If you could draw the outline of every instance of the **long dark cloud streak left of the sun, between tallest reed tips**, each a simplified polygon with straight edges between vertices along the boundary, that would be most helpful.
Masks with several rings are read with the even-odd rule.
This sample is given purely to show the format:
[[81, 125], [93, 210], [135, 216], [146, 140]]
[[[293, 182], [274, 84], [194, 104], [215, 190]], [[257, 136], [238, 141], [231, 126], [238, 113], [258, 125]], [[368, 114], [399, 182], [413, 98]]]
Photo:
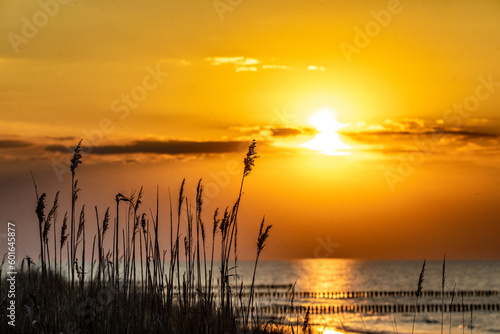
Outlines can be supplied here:
[[[137, 140], [128, 145], [102, 145], [90, 148], [91, 154], [208, 154], [208, 153], [232, 153], [241, 152], [248, 142], [244, 141], [180, 141], [180, 140]], [[45, 148], [49, 152], [68, 153], [71, 148], [63, 145], [49, 145]], [[84, 147], [84, 152], [89, 148]]]

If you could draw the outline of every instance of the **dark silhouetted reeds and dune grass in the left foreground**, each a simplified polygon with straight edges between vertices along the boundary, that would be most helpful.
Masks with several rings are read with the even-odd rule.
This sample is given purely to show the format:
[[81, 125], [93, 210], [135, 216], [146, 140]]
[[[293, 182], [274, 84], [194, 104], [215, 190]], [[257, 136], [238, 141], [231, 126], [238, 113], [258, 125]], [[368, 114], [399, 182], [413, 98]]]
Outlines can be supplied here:
[[[146, 213], [141, 206], [142, 188], [130, 197], [117, 194], [116, 207], [108, 207], [104, 216], [99, 216], [97, 206], [89, 210], [84, 204], [80, 205], [77, 177], [82, 163], [80, 141], [70, 165], [71, 208], [64, 212], [62, 224], [58, 219], [62, 211], [59, 192], [53, 204], [48, 205], [47, 195], [39, 194], [33, 178], [39, 259], [27, 256], [22, 260], [16, 277], [16, 326], [8, 325], [9, 318], [1, 314], [1, 332], [260, 333], [277, 330], [276, 326], [258, 319], [253, 307], [255, 271], [271, 230], [264, 219], [256, 241], [250, 291], [243, 293], [243, 283], [235, 286], [236, 280], [231, 279], [238, 266], [238, 211], [244, 181], [258, 158], [255, 149], [253, 141], [243, 161], [235, 203], [215, 210], [210, 215], [211, 223], [202, 219], [201, 180], [192, 202], [185, 195], [185, 180], [182, 181], [175, 204], [170, 199], [170, 221], [160, 222], [158, 194], [156, 211]], [[126, 217], [120, 214], [123, 206], [128, 212]], [[97, 227], [97, 233], [91, 237], [86, 233], [89, 224]], [[158, 240], [159, 234], [165, 233], [165, 227], [169, 230], [166, 233], [169, 233], [170, 249], [162, 250]], [[211, 238], [207, 238], [208, 233], [212, 234]], [[109, 245], [109, 238], [112, 246], [106, 248], [104, 241], [108, 239]], [[220, 254], [215, 254], [216, 250], [220, 250]], [[0, 272], [0, 282], [3, 279]], [[0, 291], [3, 303], [0, 312], [5, 313], [6, 286], [0, 286]], [[243, 298], [244, 294], [249, 297]]]

